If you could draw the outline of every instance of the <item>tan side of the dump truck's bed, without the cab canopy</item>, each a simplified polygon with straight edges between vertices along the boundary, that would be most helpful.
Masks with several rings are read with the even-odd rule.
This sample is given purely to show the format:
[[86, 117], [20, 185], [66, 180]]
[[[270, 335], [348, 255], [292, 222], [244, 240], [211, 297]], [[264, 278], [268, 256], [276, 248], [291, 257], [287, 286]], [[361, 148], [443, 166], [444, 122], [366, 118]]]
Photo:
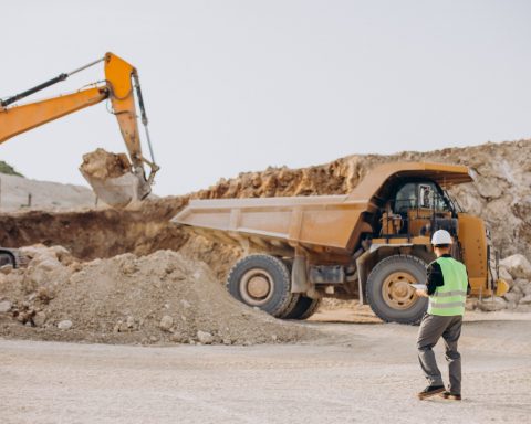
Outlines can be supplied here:
[[192, 200], [174, 222], [215, 241], [279, 254], [295, 245], [346, 253], [366, 208], [346, 195]]

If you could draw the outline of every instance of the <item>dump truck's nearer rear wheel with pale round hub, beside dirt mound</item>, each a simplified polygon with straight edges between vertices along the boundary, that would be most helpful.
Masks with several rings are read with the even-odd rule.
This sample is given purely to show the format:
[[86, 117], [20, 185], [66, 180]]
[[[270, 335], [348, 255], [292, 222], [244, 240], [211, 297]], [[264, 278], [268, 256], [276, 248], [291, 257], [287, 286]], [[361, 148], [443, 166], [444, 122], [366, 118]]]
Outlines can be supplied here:
[[236, 299], [280, 318], [293, 309], [291, 277], [282, 261], [270, 255], [249, 255], [238, 261], [227, 277], [227, 289]]

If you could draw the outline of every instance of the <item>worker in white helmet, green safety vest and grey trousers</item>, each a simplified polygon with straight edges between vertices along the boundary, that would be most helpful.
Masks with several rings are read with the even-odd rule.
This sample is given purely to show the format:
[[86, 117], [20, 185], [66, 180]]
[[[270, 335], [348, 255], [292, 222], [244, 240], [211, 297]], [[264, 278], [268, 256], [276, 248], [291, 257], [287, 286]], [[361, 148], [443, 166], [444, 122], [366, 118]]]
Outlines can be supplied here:
[[[423, 400], [441, 394], [448, 400], [461, 400], [461, 356], [457, 342], [461, 335], [465, 301], [470, 292], [467, 268], [450, 255], [451, 235], [438, 230], [431, 237], [437, 259], [427, 267], [425, 289], [417, 289], [417, 296], [429, 297], [428, 310], [420, 322], [417, 337], [418, 360], [428, 386], [418, 393]], [[446, 360], [449, 368], [449, 385], [446, 390], [435, 360], [433, 348], [442, 336]]]

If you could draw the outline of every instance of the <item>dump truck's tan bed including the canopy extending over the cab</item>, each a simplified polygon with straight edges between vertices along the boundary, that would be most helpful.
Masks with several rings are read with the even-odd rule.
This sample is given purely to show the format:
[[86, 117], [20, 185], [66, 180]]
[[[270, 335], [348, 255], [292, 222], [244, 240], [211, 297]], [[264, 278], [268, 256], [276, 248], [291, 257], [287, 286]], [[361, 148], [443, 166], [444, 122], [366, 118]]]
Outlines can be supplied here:
[[373, 169], [350, 194], [287, 198], [192, 200], [173, 222], [221, 243], [278, 255], [299, 246], [310, 253], [350, 255], [372, 227], [374, 197], [389, 178], [425, 177], [440, 186], [471, 181], [468, 169], [441, 163], [386, 163]]

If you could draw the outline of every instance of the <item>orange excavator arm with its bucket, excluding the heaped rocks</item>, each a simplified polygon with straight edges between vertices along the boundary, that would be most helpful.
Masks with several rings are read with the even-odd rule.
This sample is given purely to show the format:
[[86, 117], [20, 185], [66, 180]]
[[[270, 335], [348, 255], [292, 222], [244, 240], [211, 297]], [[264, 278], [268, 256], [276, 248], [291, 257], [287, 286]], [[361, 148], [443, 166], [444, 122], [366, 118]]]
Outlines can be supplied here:
[[[75, 93], [54, 96], [44, 100], [15, 105], [17, 102], [54, 84], [65, 81], [69, 76], [84, 71], [98, 63], [104, 63], [105, 80], [85, 86]], [[135, 100], [136, 92], [136, 100]], [[112, 113], [116, 116], [128, 152], [128, 160], [122, 155], [121, 162], [125, 173], [116, 178], [102, 178], [104, 173], [87, 173], [81, 169], [83, 176], [92, 186], [96, 195], [105, 203], [123, 208], [132, 200], [145, 199], [152, 191], [150, 186], [159, 167], [155, 163], [149, 131], [148, 119], [142, 96], [138, 72], [134, 66], [116, 56], [106, 53], [104, 57], [91, 62], [70, 73], [62, 73], [33, 88], [27, 89], [14, 96], [0, 99], [0, 144], [6, 140], [39, 127], [51, 120], [81, 110], [88, 106], [110, 100]], [[138, 103], [142, 123], [146, 130], [150, 160], [142, 153], [140, 137], [138, 134], [136, 102]], [[129, 163], [131, 161], [131, 163]], [[144, 165], [150, 168], [146, 178]]]

